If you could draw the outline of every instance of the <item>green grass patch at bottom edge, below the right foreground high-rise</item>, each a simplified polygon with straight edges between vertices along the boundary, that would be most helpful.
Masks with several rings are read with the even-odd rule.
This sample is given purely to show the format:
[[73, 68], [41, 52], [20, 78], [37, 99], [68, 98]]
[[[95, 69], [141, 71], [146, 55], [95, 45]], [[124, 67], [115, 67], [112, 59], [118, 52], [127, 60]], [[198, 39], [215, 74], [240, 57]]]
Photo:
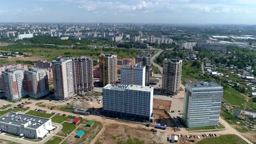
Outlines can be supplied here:
[[197, 144], [216, 144], [216, 143], [225, 143], [225, 144], [246, 144], [247, 142], [242, 140], [236, 135], [222, 135], [219, 137], [210, 137], [203, 139]]

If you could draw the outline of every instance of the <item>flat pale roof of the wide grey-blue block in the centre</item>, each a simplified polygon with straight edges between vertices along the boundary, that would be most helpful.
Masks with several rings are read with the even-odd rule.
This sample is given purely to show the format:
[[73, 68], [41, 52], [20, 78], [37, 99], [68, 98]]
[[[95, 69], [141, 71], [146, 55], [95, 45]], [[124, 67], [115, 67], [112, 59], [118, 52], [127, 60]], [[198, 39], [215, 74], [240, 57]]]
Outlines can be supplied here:
[[103, 89], [114, 89], [117, 91], [125, 91], [126, 89], [134, 90], [134, 91], [143, 91], [143, 92], [151, 92], [153, 91], [153, 87], [148, 86], [138, 86], [138, 85], [124, 85], [124, 84], [118, 84], [118, 85], [106, 85]]

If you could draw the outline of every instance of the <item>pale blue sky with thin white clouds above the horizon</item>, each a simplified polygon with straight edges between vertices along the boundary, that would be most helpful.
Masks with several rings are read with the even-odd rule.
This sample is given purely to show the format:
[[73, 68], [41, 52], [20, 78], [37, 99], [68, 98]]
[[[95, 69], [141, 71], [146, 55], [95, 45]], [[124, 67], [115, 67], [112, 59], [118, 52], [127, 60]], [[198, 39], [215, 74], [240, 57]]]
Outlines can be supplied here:
[[256, 0], [0, 0], [0, 22], [256, 24]]

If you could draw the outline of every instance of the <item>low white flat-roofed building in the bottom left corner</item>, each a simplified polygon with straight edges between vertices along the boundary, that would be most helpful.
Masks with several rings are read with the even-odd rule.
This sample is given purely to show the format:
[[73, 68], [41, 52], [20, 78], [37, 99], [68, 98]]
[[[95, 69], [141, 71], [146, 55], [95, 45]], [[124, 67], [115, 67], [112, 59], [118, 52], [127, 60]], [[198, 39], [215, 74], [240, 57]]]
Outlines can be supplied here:
[[28, 137], [30, 139], [44, 139], [56, 129], [51, 119], [9, 112], [0, 117], [0, 129], [4, 133]]

